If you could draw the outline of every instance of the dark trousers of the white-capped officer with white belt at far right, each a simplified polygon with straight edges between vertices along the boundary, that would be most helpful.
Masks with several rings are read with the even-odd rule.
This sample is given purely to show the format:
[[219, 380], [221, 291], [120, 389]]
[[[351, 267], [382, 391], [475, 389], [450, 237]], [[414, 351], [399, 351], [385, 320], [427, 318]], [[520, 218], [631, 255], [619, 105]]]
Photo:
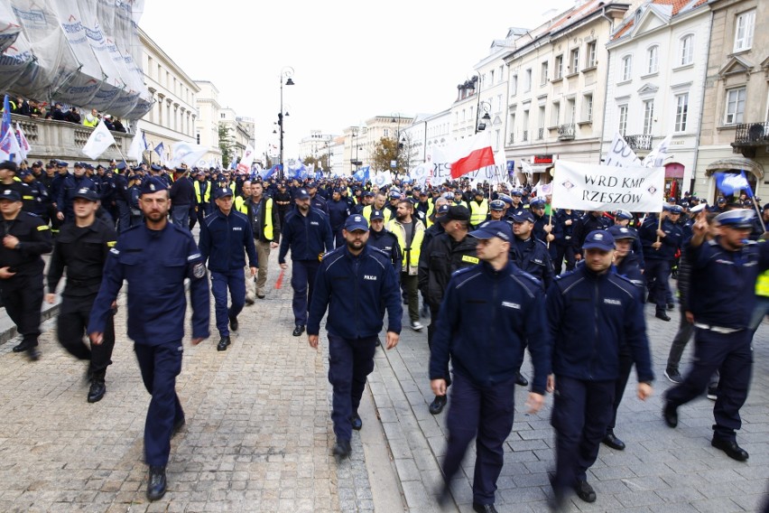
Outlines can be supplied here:
[[749, 330], [734, 333], [694, 329], [694, 364], [681, 385], [672, 387], [665, 398], [673, 406], [681, 406], [701, 396], [710, 377], [720, 371], [718, 398], [713, 406], [716, 424], [713, 437], [727, 441], [736, 439], [742, 426], [739, 409], [745, 404], [753, 371], [753, 349]]

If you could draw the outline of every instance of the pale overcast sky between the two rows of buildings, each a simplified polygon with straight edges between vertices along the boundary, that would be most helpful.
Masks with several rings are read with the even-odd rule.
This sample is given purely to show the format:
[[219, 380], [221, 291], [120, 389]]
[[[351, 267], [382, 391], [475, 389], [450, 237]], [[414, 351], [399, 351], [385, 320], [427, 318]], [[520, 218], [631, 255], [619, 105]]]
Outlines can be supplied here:
[[340, 135], [374, 116], [434, 114], [509, 27], [532, 29], [574, 0], [325, 2], [146, 0], [140, 26], [222, 107], [256, 123], [256, 153], [274, 136], [280, 78], [286, 158], [311, 130]]

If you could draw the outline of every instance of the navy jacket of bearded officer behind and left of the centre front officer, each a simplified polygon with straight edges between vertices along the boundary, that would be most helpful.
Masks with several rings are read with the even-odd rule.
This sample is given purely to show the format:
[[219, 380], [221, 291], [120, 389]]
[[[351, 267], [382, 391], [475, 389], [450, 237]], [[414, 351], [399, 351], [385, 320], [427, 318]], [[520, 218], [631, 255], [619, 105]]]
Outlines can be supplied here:
[[289, 247], [292, 260], [316, 261], [334, 247], [329, 216], [312, 207], [306, 216], [302, 216], [297, 208], [288, 212], [283, 220], [281, 236], [278, 264], [285, 263]]

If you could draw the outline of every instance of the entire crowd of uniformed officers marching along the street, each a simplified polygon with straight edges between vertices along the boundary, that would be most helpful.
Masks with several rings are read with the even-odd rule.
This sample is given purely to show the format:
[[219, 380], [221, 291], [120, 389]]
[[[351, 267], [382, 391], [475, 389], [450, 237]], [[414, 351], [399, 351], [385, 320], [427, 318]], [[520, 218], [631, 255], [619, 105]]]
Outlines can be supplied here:
[[[185, 424], [175, 392], [185, 281], [192, 343], [209, 336], [213, 295], [217, 350], [225, 351], [246, 304], [266, 297], [267, 263], [278, 249], [282, 275], [291, 259], [292, 334], [306, 331], [318, 348], [328, 311], [335, 455], [346, 458], [352, 431], [362, 428], [357, 408], [382, 345], [385, 312], [389, 350], [398, 343], [405, 305], [413, 331], [430, 318], [431, 414], [442, 412], [452, 391], [440, 500], [448, 499], [448, 483], [475, 438], [473, 508], [496, 511], [514, 387], [529, 385], [521, 373], [528, 348], [527, 406], [536, 412], [546, 393], [554, 396], [551, 483], [553, 507], [561, 508], [572, 490], [596, 500], [587, 471], [600, 443], [625, 449], [614, 429], [634, 364], [637, 396], [652, 395], [644, 303], [671, 321], [672, 272], [681, 321], [665, 371], [675, 386], [662, 417], [675, 427], [678, 408], [707, 391], [715, 399], [712, 445], [747, 460], [736, 438], [739, 409], [749, 387], [751, 340], [769, 310], [769, 246], [756, 243], [764, 229], [751, 207], [740, 198], [708, 208], [686, 194], [660, 214], [578, 212], [504, 185], [495, 191], [466, 182], [396, 182], [378, 190], [344, 179], [263, 181], [186, 167], [75, 163], [70, 173], [66, 162], [44, 170], [42, 163], [27, 169], [5, 162], [0, 298], [22, 335], [14, 352], [38, 359], [43, 296], [54, 302], [66, 275], [58, 338], [88, 361], [88, 402], [97, 402], [107, 390], [117, 294], [128, 282], [128, 336], [152, 396], [144, 431], [147, 496], [160, 499], [171, 436]], [[51, 250], [43, 276], [41, 256]], [[694, 359], [684, 377], [679, 362], [692, 333]]]

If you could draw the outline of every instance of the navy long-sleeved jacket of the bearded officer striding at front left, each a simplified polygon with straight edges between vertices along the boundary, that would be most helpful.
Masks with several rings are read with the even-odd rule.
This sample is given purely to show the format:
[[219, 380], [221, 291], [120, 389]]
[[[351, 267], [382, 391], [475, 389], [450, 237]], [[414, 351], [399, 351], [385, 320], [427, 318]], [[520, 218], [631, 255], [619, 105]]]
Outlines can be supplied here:
[[190, 278], [192, 338], [208, 337], [210, 300], [206, 267], [192, 234], [172, 223], [161, 230], [126, 229], [109, 250], [88, 333], [104, 332], [112, 302], [128, 281], [128, 336], [157, 346], [184, 338], [184, 280]]

